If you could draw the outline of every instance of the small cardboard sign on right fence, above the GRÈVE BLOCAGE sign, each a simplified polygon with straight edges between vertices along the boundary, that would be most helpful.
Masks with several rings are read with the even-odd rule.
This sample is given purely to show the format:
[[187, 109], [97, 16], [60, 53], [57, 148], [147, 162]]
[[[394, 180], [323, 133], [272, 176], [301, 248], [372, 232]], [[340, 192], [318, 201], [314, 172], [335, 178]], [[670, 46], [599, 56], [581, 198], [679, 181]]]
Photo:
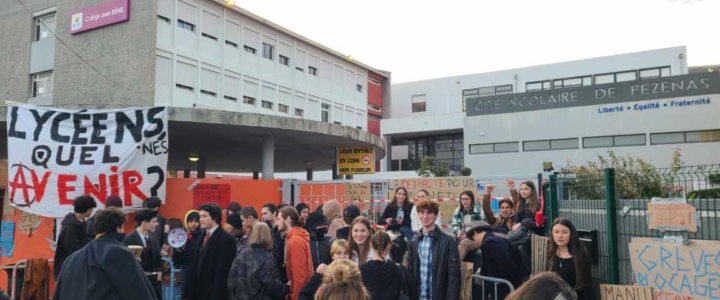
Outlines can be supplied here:
[[697, 232], [694, 206], [687, 203], [648, 203], [648, 228]]

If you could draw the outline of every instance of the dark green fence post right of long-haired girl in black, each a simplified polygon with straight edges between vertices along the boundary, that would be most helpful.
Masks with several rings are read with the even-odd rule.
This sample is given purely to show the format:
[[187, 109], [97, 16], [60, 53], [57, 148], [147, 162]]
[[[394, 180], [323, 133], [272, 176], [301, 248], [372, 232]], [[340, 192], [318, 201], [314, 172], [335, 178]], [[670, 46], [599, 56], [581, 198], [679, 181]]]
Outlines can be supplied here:
[[617, 236], [617, 199], [615, 199], [615, 169], [605, 169], [605, 216], [607, 218], [609, 284], [619, 284], [620, 264]]

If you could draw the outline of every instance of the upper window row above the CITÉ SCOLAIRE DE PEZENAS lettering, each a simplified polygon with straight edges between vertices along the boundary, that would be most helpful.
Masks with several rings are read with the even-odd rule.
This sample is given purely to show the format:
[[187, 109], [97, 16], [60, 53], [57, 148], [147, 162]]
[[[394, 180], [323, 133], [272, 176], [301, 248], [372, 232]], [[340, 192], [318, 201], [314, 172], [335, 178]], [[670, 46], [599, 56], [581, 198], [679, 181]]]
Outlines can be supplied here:
[[652, 79], [670, 76], [670, 67], [657, 67], [641, 70], [629, 70], [614, 73], [604, 73], [595, 75], [584, 75], [572, 78], [553, 79], [528, 82], [525, 84], [525, 91], [542, 91], [551, 89], [561, 89], [576, 86], [588, 86], [593, 84], [615, 83], [623, 81], [633, 81], [639, 79]]

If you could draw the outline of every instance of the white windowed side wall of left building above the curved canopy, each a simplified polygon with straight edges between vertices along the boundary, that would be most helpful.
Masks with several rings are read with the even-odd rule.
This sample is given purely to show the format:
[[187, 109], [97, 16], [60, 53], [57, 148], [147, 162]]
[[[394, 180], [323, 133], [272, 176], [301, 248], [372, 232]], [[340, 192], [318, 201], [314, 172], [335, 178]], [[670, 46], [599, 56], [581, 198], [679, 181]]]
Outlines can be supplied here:
[[[158, 0], [158, 15], [156, 105], [320, 121], [323, 99], [332, 107], [329, 122], [367, 129], [368, 70], [211, 1]], [[271, 59], [264, 44], [273, 47]]]

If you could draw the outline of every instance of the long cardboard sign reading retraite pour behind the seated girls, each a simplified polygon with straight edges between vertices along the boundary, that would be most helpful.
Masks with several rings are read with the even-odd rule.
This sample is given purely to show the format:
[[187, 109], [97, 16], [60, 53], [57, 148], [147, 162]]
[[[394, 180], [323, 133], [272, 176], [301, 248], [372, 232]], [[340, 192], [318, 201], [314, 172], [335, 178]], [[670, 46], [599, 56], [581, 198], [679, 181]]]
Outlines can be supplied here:
[[387, 199], [392, 199], [395, 189], [403, 186], [408, 190], [408, 197], [415, 199], [419, 190], [425, 189], [430, 192], [430, 199], [459, 199], [460, 193], [465, 190], [475, 192], [475, 179], [471, 177], [437, 177], [437, 178], [412, 178], [412, 179], [390, 179], [388, 180]]

